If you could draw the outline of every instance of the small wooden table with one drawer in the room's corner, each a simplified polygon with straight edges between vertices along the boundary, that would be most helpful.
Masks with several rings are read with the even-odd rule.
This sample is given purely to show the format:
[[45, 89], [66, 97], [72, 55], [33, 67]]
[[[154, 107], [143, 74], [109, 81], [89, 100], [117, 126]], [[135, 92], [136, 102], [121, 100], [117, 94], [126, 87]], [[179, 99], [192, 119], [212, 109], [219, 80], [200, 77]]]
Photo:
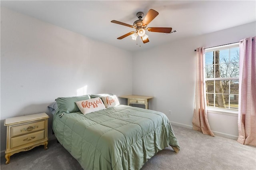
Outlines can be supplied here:
[[138, 96], [138, 95], [128, 95], [128, 96], [119, 96], [121, 98], [127, 99], [127, 104], [137, 104], [137, 105], [145, 105], [145, 109], [148, 109], [148, 99], [152, 99], [152, 96]]

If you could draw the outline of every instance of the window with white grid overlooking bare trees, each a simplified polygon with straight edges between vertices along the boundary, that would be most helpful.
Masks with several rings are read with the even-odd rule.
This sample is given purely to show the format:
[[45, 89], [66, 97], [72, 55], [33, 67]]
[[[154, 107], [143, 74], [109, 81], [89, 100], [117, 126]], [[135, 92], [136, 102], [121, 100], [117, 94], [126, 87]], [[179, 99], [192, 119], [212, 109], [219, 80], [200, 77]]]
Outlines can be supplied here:
[[238, 110], [239, 43], [205, 49], [206, 104]]

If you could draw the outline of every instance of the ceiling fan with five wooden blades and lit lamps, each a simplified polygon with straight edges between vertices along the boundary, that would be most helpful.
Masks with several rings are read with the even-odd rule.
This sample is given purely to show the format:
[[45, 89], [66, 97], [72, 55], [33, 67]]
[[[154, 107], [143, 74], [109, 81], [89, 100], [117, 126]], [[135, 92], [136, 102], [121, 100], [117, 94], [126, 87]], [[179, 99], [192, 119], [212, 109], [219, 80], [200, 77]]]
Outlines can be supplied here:
[[145, 30], [148, 30], [149, 32], [162, 32], [162, 33], [170, 33], [172, 31], [172, 28], [167, 27], [148, 27], [148, 24], [158, 16], [158, 12], [155, 10], [150, 9], [148, 13], [146, 14], [145, 18], [142, 20], [141, 18], [144, 16], [143, 12], [138, 12], [137, 17], [139, 18], [133, 23], [133, 26], [130, 24], [126, 24], [123, 22], [119, 22], [116, 20], [112, 20], [112, 23], [120, 24], [123, 26], [128, 26], [130, 28], [134, 28], [135, 31], [129, 32], [127, 34], [124, 34], [123, 36], [118, 37], [118, 40], [121, 40], [123, 38], [126, 38], [127, 36], [132, 36], [133, 40], [136, 40], [138, 36], [140, 36], [143, 43], [149, 42], [148, 35], [146, 34]]

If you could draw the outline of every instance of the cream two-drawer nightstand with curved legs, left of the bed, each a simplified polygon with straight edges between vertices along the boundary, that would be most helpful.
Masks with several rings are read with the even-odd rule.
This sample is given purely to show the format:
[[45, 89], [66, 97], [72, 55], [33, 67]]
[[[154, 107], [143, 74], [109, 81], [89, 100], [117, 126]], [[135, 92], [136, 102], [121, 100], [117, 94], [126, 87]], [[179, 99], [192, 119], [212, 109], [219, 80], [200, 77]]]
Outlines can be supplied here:
[[39, 145], [44, 145], [44, 149], [47, 149], [48, 118], [46, 113], [38, 113], [4, 120], [4, 126], [7, 126], [6, 164], [15, 153], [31, 150]]

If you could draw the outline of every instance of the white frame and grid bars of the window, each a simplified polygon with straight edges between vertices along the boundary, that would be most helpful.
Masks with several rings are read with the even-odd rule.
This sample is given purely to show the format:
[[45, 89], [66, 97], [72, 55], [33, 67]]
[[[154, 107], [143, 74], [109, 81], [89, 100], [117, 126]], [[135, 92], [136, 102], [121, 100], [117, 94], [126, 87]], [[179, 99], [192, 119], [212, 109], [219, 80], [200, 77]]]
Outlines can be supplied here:
[[[234, 47], [239, 47], [239, 44], [240, 44], [240, 42], [206, 48], [206, 49], [204, 49], [204, 60], [206, 59], [205, 54], [208, 53], [208, 52], [220, 51], [220, 50], [225, 50], [225, 49], [231, 49], [231, 48], [234, 48]], [[230, 57], [230, 53], [229, 53], [229, 57]], [[215, 60], [215, 57], [214, 57], [214, 60]], [[214, 63], [215, 63], [215, 61], [214, 61]], [[232, 63], [232, 62], [230, 62], [230, 63]], [[212, 64], [214, 69], [215, 69], [215, 65], [216, 64]], [[206, 95], [207, 94], [213, 94], [213, 96], [214, 96], [213, 97], [214, 98], [214, 107], [208, 107], [208, 105], [206, 105], [207, 110], [211, 113], [237, 116], [238, 115], [238, 109], [237, 110], [230, 109], [230, 95], [236, 95], [236, 94], [230, 94], [230, 83], [229, 83], [229, 92], [228, 92], [228, 94], [227, 93], [222, 93], [224, 95], [228, 95], [228, 103], [229, 103], [228, 108], [224, 109], [224, 108], [218, 108], [218, 107], [215, 106], [215, 97], [216, 97], [216, 94], [219, 94], [219, 93], [216, 93], [216, 91], [215, 91], [215, 80], [229, 80], [229, 81], [236, 80], [236, 81], [239, 82], [239, 76], [238, 77], [229, 77], [229, 78], [228, 77], [214, 78], [215, 77], [215, 71], [214, 71], [213, 78], [206, 78], [205, 69], [206, 69], [206, 62], [204, 61], [204, 79], [205, 79], [204, 83], [205, 83], [205, 85], [206, 85], [207, 81], [214, 81], [214, 89], [213, 89], [214, 91], [213, 91], [213, 93], [206, 93], [206, 88], [204, 89]], [[238, 92], [237, 95], [239, 97], [239, 92]], [[239, 105], [239, 103], [238, 103], [238, 105]]]

